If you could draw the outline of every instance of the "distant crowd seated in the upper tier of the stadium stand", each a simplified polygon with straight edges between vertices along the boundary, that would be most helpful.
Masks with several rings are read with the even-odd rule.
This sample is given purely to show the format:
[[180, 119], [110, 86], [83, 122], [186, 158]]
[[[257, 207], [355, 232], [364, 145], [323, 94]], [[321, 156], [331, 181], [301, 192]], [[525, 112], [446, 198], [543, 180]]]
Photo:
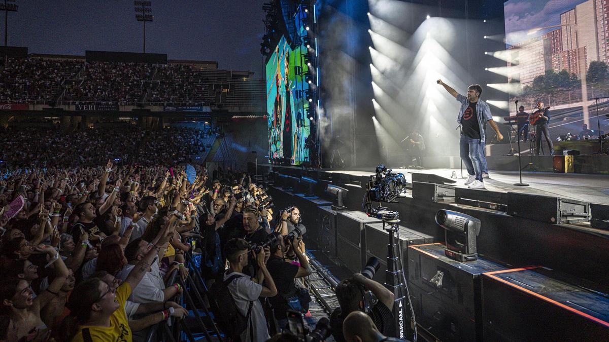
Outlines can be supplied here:
[[[7, 58], [0, 65], [0, 103], [201, 105], [216, 102], [213, 83], [228, 81], [227, 77], [226, 71], [201, 71], [182, 64]], [[263, 100], [264, 87], [257, 85], [239, 88], [247, 94], [234, 96]]]

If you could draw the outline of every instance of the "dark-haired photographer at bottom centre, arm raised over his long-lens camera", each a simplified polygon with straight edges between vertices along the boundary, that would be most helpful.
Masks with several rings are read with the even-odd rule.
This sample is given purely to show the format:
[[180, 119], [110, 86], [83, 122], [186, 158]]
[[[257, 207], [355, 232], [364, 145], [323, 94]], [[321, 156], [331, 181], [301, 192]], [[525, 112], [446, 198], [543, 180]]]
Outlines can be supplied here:
[[378, 302], [368, 310], [367, 314], [383, 335], [396, 335], [392, 313], [395, 296], [380, 283], [368, 279], [361, 273], [355, 273], [353, 277], [341, 281], [336, 287], [336, 298], [340, 307], [337, 307], [332, 313], [330, 326], [332, 327], [332, 335], [337, 342], [345, 341], [342, 325], [347, 315], [358, 310], [364, 311], [364, 294], [368, 290], [376, 296]]

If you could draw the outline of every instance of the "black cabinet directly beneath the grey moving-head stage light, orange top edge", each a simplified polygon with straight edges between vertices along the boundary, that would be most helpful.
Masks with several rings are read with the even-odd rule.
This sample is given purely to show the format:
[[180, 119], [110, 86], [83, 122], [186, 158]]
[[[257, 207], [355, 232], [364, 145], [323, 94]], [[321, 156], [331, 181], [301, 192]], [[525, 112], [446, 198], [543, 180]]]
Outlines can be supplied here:
[[482, 341], [481, 274], [505, 268], [481, 257], [449, 259], [440, 243], [409, 246], [408, 263], [410, 290], [422, 293], [417, 323], [440, 341]]

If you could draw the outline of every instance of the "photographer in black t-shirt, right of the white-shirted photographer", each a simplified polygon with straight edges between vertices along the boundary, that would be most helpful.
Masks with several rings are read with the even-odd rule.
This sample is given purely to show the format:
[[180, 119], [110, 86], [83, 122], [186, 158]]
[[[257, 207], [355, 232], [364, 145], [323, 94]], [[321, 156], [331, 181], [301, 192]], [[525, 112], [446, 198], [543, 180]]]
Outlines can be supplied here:
[[277, 320], [276, 330], [280, 332], [287, 324], [287, 310], [292, 309], [301, 313], [308, 311], [311, 296], [306, 289], [296, 286], [294, 278], [311, 274], [311, 266], [298, 248], [292, 248], [292, 250], [296, 253], [300, 267], [286, 260], [285, 253], [288, 246], [298, 246], [297, 234], [291, 236], [280, 236], [277, 232], [273, 232], [273, 234], [276, 234], [277, 239], [270, 245], [271, 256], [267, 261], [267, 268], [275, 280], [278, 293], [270, 298], [269, 302]]

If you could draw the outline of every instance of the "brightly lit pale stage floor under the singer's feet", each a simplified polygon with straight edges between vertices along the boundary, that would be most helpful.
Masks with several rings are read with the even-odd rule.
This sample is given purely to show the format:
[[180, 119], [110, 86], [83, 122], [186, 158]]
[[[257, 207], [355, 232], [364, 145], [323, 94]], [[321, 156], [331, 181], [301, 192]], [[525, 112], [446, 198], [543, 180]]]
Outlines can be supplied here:
[[[389, 167], [387, 167], [389, 169]], [[374, 172], [368, 170], [325, 170], [326, 172], [348, 173], [350, 175], [366, 176]], [[460, 169], [393, 169], [394, 172], [404, 173], [406, 180], [411, 183], [410, 173], [433, 173], [445, 178], [451, 178], [454, 171], [457, 175], [457, 183], [453, 184], [465, 187], [467, 172], [463, 170], [461, 178]], [[484, 180], [487, 190], [491, 191], [515, 191], [527, 194], [547, 195], [553, 197], [572, 198], [580, 201], [609, 204], [609, 175], [584, 175], [581, 173], [552, 173], [552, 172], [523, 172], [523, 183], [529, 186], [515, 186], [519, 182], [518, 172], [513, 171], [490, 171], [490, 179]]]

